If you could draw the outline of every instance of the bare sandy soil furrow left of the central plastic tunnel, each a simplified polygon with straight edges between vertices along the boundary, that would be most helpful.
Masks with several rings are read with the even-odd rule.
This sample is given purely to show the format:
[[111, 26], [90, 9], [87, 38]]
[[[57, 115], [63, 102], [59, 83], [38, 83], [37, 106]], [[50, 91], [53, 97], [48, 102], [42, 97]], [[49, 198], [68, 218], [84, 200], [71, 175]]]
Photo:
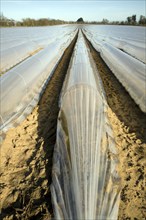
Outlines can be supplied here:
[[[78, 34], [77, 34], [78, 35]], [[77, 35], [65, 50], [39, 104], [1, 146], [2, 219], [51, 219], [51, 171], [58, 101]]]

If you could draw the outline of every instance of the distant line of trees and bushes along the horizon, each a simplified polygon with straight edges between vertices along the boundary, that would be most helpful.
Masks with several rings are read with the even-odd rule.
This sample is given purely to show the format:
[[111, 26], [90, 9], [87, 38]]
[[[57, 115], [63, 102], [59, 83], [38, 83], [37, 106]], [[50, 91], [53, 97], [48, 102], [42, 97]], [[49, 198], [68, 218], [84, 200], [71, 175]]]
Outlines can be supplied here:
[[87, 24], [115, 24], [115, 25], [145, 25], [146, 26], [146, 17], [141, 15], [139, 20], [137, 21], [136, 15], [132, 15], [127, 17], [126, 21], [112, 21], [109, 22], [108, 19], [103, 18], [102, 21], [84, 21], [82, 18], [79, 18], [76, 22], [74, 21], [64, 21], [59, 19], [49, 19], [49, 18], [41, 18], [41, 19], [32, 19], [25, 18], [22, 21], [15, 21], [14, 19], [8, 19], [3, 14], [0, 14], [0, 26], [1, 27], [13, 27], [13, 26], [48, 26], [48, 25], [58, 25], [58, 24], [74, 24], [74, 23], [87, 23]]

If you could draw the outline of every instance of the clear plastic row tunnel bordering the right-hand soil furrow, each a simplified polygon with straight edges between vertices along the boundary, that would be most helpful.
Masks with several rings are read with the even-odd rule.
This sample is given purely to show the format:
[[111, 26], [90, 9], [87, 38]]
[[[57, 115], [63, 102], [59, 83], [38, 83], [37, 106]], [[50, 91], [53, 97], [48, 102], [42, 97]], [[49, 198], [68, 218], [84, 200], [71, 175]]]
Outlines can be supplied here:
[[[85, 34], [87, 32], [84, 32]], [[123, 84], [136, 104], [146, 112], [146, 65], [112, 45], [86, 35], [93, 47]]]

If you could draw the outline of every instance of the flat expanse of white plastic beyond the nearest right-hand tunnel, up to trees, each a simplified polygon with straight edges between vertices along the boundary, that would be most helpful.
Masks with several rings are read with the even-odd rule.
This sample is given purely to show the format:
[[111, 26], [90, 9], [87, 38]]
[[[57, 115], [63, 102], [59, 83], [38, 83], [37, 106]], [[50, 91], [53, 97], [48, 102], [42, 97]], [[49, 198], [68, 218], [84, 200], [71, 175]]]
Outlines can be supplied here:
[[124, 26], [85, 26], [86, 34], [96, 41], [105, 41], [116, 48], [122, 49], [138, 60], [146, 63], [146, 36], [144, 27]]

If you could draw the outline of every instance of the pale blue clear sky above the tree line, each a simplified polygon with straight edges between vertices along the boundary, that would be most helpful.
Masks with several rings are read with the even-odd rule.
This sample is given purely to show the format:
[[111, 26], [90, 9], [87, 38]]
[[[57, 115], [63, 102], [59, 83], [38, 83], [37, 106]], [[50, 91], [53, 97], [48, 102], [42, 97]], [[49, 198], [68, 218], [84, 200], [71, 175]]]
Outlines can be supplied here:
[[146, 16], [145, 0], [0, 0], [0, 11], [7, 18], [54, 18], [65, 21], [125, 21], [136, 14]]

